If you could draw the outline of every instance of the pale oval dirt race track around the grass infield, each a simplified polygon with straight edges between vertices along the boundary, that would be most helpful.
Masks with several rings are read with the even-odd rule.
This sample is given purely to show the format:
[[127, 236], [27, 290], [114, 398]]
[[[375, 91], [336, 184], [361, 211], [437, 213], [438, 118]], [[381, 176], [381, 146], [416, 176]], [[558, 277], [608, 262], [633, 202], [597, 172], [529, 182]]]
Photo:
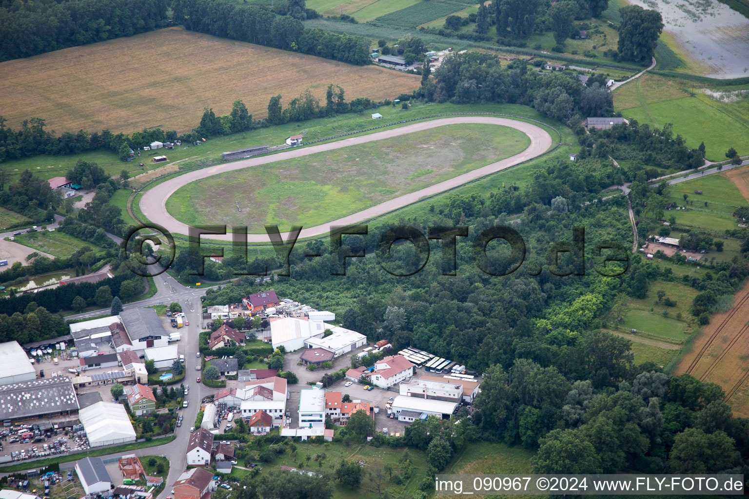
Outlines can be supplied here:
[[[160, 183], [154, 186], [153, 189], [145, 192], [140, 200], [140, 209], [143, 215], [151, 221], [156, 221], [161, 224], [166, 230], [171, 233], [188, 233], [188, 225], [178, 221], [166, 209], [166, 200], [169, 196], [174, 194], [177, 189], [188, 183], [194, 182], [205, 177], [210, 177], [216, 174], [222, 174], [226, 171], [239, 170], [241, 168], [250, 168], [252, 166], [264, 165], [271, 162], [282, 161], [283, 159], [297, 158], [300, 156], [307, 156], [309, 154], [320, 153], [327, 150], [340, 149], [341, 147], [348, 147], [356, 144], [363, 144], [365, 142], [377, 141], [383, 138], [395, 137], [398, 135], [404, 135], [410, 132], [418, 132], [420, 130], [426, 130], [435, 128], [437, 126], [445, 126], [452, 124], [461, 123], [486, 123], [500, 126], [511, 126], [512, 128], [518, 129], [524, 132], [530, 137], [530, 146], [527, 147], [521, 153], [515, 154], [502, 161], [491, 163], [482, 168], [469, 171], [466, 174], [458, 175], [452, 179], [445, 180], [443, 182], [434, 184], [424, 189], [419, 189], [416, 192], [410, 192], [407, 195], [402, 195], [398, 198], [394, 198], [384, 203], [377, 204], [368, 209], [364, 209], [360, 212], [352, 215], [339, 218], [338, 220], [330, 221], [329, 224], [321, 224], [316, 227], [307, 227], [302, 230], [300, 237], [312, 237], [320, 236], [321, 234], [328, 233], [330, 227], [333, 225], [348, 225], [357, 224], [369, 219], [375, 218], [378, 215], [383, 215], [387, 212], [391, 212], [394, 209], [402, 208], [417, 200], [426, 196], [439, 194], [440, 192], [454, 189], [455, 187], [462, 186], [464, 183], [476, 180], [480, 177], [485, 177], [488, 174], [496, 173], [497, 171], [505, 170], [511, 166], [518, 165], [521, 162], [533, 159], [551, 147], [551, 135], [548, 134], [540, 126], [527, 123], [525, 121], [511, 120], [508, 118], [500, 117], [485, 117], [485, 116], [464, 116], [464, 117], [448, 117], [441, 118], [438, 120], [424, 121], [421, 123], [413, 123], [412, 125], [401, 126], [400, 128], [386, 129], [383, 132], [375, 132], [370, 135], [361, 135], [358, 137], [347, 138], [342, 141], [330, 142], [327, 144], [320, 144], [312, 147], [303, 147], [301, 149], [292, 149], [282, 153], [273, 154], [271, 156], [264, 156], [259, 158], [243, 159], [237, 162], [226, 163], [224, 165], [216, 165], [210, 168], [203, 168], [197, 171], [191, 171], [187, 174], [180, 175], [166, 182]], [[284, 239], [288, 238], [288, 233], [282, 234]], [[212, 235], [210, 239], [218, 239], [222, 241], [231, 241], [231, 234], [224, 235]], [[248, 234], [248, 242], [269, 242], [267, 234]]]

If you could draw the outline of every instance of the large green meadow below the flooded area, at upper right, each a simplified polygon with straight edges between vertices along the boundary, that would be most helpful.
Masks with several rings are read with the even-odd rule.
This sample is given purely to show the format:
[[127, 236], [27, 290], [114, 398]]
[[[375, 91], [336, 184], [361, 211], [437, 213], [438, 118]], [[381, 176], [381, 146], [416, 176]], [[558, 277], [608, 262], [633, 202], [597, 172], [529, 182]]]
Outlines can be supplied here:
[[613, 103], [622, 116], [640, 123], [658, 128], [673, 123], [674, 135], [682, 135], [689, 147], [705, 141], [712, 161], [725, 159], [730, 147], [749, 154], [749, 99], [721, 102], [692, 82], [646, 74], [617, 88]]

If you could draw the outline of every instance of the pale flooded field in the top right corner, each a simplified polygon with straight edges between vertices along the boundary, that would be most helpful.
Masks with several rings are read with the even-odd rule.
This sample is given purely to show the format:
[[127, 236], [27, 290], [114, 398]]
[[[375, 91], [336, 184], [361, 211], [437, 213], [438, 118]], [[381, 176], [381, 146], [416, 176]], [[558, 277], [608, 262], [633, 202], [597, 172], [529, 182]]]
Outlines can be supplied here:
[[749, 19], [718, 0], [629, 0], [663, 16], [664, 31], [703, 76], [749, 76]]

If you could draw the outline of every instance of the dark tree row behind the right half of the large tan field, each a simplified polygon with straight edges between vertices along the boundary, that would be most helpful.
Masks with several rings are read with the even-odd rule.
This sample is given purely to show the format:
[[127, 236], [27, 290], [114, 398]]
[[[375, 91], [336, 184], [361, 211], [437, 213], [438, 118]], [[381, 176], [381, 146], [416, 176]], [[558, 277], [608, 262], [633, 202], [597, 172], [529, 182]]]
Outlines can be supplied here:
[[[303, 2], [302, 2], [303, 4]], [[369, 40], [337, 34], [320, 28], [305, 28], [300, 6], [297, 16], [276, 16], [261, 5], [243, 5], [228, 0], [174, 0], [175, 21], [190, 31], [242, 40], [258, 45], [317, 55], [348, 64], [369, 63]]]

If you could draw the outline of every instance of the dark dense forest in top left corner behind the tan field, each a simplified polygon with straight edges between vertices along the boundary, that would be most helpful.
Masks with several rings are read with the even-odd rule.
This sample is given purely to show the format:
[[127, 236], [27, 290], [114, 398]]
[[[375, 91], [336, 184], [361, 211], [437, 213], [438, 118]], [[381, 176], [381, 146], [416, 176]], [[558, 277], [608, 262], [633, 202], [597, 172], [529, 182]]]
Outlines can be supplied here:
[[0, 1], [0, 61], [163, 28], [166, 0]]

